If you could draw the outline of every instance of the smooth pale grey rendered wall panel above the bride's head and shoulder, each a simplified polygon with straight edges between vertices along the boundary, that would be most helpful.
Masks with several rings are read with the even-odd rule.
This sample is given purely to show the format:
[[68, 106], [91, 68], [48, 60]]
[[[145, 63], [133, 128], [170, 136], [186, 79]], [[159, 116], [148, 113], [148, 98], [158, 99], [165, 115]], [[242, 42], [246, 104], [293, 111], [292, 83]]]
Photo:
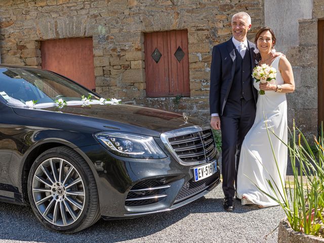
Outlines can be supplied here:
[[312, 10], [313, 0], [264, 0], [265, 26], [273, 29], [278, 52], [299, 45], [298, 20], [311, 19]]

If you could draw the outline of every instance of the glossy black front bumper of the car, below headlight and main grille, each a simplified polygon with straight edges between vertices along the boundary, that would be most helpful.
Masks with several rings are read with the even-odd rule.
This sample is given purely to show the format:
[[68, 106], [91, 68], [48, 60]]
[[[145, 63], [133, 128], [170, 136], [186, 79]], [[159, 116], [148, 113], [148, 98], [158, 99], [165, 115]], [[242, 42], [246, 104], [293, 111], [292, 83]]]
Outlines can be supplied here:
[[[88, 163], [93, 163], [98, 174], [95, 177], [104, 219], [135, 218], [177, 209], [220, 183], [218, 166], [215, 174], [195, 182], [193, 168], [198, 165], [180, 165], [166, 150], [168, 157], [163, 159], [119, 157], [100, 144], [79, 150], [87, 156]], [[135, 192], [131, 192], [134, 188]], [[144, 197], [149, 199], [138, 199]]]

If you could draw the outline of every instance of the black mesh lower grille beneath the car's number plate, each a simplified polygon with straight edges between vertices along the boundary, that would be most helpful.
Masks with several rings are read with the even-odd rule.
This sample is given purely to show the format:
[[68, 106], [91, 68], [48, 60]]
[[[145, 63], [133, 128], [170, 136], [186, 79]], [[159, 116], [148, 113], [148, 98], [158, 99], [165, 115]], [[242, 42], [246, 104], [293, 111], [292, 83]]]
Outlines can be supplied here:
[[201, 191], [206, 190], [209, 186], [214, 184], [219, 180], [219, 171], [214, 173], [212, 176], [207, 177], [206, 179], [200, 180], [200, 181], [188, 181], [186, 182], [182, 189], [180, 190], [176, 200], [175, 204], [179, 203], [180, 201], [194, 196], [195, 194], [198, 194]]

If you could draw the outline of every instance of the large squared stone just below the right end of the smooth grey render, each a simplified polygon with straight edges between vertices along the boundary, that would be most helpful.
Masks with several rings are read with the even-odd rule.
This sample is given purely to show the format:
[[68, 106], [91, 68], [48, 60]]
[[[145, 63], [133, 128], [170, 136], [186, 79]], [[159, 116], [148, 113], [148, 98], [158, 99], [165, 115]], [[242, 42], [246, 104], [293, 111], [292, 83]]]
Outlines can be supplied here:
[[317, 45], [316, 21], [299, 21], [299, 45]]

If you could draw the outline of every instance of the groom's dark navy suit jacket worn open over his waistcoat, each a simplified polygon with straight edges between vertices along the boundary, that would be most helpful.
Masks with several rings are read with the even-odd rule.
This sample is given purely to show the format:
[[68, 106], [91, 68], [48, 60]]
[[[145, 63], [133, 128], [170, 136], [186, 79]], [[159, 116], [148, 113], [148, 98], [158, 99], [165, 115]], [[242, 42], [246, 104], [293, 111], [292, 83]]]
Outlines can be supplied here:
[[[254, 43], [248, 41], [248, 49], [245, 55], [251, 57], [251, 68], [253, 69], [258, 61], [256, 60], [257, 55], [254, 53], [256, 46]], [[232, 86], [236, 65], [236, 55], [232, 38], [227, 42], [214, 46], [213, 58], [211, 64], [211, 86], [210, 86], [210, 112], [218, 113], [220, 116], [223, 114], [224, 107], [226, 105], [227, 98], [231, 89], [238, 89], [239, 87]], [[238, 54], [239, 55], [239, 54]], [[249, 57], [249, 59], [250, 59]], [[252, 73], [252, 70], [251, 70]], [[255, 102], [257, 101], [257, 90], [253, 88], [252, 76], [249, 75], [249, 86], [251, 87], [252, 96]], [[249, 89], [250, 89], [249, 87]], [[238, 99], [240, 97], [237, 97]]]

